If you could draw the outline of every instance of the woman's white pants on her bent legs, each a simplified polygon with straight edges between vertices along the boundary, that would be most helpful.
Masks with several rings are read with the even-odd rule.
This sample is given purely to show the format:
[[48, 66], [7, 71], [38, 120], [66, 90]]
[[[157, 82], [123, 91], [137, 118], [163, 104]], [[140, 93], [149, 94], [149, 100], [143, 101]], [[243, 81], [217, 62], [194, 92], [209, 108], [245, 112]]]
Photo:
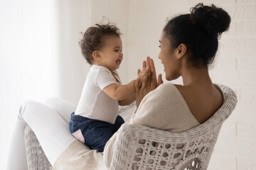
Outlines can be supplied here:
[[46, 104], [28, 101], [21, 106], [11, 140], [8, 170], [27, 170], [24, 129], [28, 124], [36, 134], [50, 164], [75, 140], [68, 123], [75, 106], [60, 98], [49, 98]]

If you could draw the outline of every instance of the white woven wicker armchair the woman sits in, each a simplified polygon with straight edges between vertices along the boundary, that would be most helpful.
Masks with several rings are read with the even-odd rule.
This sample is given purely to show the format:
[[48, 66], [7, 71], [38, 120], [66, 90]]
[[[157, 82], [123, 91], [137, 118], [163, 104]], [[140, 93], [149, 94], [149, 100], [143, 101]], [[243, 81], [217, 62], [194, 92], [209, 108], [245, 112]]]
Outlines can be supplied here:
[[[207, 169], [220, 128], [237, 103], [232, 89], [219, 86], [224, 94], [223, 106], [196, 128], [169, 132], [142, 125], [122, 125], [110, 169]], [[29, 127], [25, 131], [29, 168], [50, 169], [33, 131]]]

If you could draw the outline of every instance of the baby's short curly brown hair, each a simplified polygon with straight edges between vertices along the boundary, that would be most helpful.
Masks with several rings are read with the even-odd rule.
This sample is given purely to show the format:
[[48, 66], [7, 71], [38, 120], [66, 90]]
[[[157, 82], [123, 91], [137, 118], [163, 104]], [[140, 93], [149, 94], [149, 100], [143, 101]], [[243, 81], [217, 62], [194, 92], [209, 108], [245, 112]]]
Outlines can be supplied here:
[[120, 37], [122, 33], [119, 32], [119, 28], [114, 25], [114, 23], [107, 24], [95, 24], [90, 28], [87, 28], [82, 40], [80, 40], [79, 45], [82, 50], [82, 56], [89, 64], [92, 64], [93, 57], [92, 52], [100, 50], [102, 47], [102, 38], [107, 35], [116, 35]]

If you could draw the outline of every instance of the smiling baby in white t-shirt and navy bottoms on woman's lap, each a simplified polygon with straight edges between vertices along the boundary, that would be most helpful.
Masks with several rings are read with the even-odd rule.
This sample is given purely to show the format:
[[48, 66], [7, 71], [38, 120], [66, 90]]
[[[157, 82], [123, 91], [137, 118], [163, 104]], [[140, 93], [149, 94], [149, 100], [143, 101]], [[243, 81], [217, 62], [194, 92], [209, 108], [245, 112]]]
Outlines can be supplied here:
[[103, 152], [107, 141], [124, 123], [118, 115], [119, 105], [135, 100], [135, 80], [121, 85], [116, 71], [123, 60], [120, 35], [112, 23], [96, 24], [86, 30], [80, 41], [82, 55], [92, 67], [78, 108], [71, 114], [70, 132], [98, 152]]

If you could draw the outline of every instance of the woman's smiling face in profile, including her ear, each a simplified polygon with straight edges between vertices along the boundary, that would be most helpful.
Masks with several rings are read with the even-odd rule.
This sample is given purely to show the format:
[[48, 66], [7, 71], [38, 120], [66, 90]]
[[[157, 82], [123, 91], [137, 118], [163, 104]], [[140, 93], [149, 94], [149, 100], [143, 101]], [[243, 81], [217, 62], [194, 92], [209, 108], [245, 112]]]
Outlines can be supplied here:
[[171, 40], [166, 37], [165, 33], [161, 33], [161, 37], [159, 40], [159, 59], [161, 63], [164, 65], [164, 72], [166, 74], [166, 80], [174, 80], [178, 79], [181, 76], [181, 62], [177, 59], [177, 49], [174, 49], [171, 46]]

